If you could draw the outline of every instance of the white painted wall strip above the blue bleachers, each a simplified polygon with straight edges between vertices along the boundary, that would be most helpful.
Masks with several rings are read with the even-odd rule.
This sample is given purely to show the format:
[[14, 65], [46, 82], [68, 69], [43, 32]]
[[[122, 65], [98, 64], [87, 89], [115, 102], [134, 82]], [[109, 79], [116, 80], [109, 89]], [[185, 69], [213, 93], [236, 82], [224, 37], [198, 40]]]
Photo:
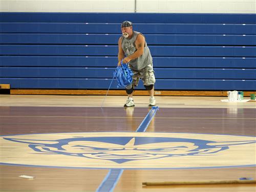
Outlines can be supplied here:
[[2, 12], [256, 13], [255, 4], [254, 0], [1, 0], [0, 10]]

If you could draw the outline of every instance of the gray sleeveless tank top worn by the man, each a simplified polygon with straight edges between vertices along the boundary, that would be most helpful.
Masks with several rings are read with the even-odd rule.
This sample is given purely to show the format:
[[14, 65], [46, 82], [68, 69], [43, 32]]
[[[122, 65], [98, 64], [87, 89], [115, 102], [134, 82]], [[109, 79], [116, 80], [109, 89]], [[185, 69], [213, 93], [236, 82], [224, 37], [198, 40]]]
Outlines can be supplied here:
[[[142, 33], [133, 31], [133, 37], [131, 39], [125, 38], [122, 36], [122, 49], [126, 56], [132, 55], [137, 50], [137, 48], [135, 46], [135, 41], [136, 41], [138, 34], [142, 34]], [[146, 40], [145, 40], [143, 54], [141, 56], [139, 56], [138, 58], [131, 60], [129, 65], [130, 65], [130, 68], [135, 69], [135, 70], [141, 70], [148, 65], [151, 65], [153, 67], [152, 56], [150, 53], [150, 49], [148, 49], [148, 47], [147, 47]]]

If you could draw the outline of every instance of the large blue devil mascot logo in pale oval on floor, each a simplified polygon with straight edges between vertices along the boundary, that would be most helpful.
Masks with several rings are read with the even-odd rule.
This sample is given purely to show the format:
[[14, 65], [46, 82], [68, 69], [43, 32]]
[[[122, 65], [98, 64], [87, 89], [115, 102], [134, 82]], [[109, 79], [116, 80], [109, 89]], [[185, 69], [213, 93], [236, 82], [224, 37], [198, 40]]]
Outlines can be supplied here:
[[[22, 148], [20, 148], [21, 151], [28, 151], [25, 157], [25, 159], [27, 158], [27, 162], [33, 159], [33, 155], [34, 158], [39, 156], [40, 159], [42, 159], [42, 162], [39, 164], [29, 163], [28, 165], [59, 166], [54, 162], [56, 159], [62, 159], [61, 161], [67, 162], [63, 163], [61, 165], [62, 167], [87, 168], [192, 168], [200, 167], [200, 164], [205, 164], [203, 167], [211, 167], [212, 165], [207, 162], [204, 163], [202, 160], [222, 160], [226, 155], [230, 156], [228, 153], [230, 149], [234, 154], [236, 151], [241, 151], [243, 148], [245, 150], [245, 147], [248, 148], [250, 146], [250, 149], [256, 142], [254, 137], [226, 136], [227, 140], [225, 140], [224, 135], [209, 134], [142, 134], [120, 132], [116, 132], [117, 136], [108, 136], [110, 134], [108, 132], [98, 133], [98, 136], [96, 136], [96, 134], [97, 133], [35, 134], [3, 136], [1, 139], [2, 143], [3, 141], [8, 142], [8, 146], [15, 143], [14, 146], [22, 146]], [[124, 136], [127, 134], [131, 136]], [[38, 139], [40, 135], [42, 135], [44, 139]], [[55, 139], [53, 139], [54, 135], [56, 136]], [[115, 132], [111, 132], [111, 135], [115, 135]], [[153, 135], [155, 135], [155, 137]], [[188, 138], [190, 135], [191, 138]], [[33, 138], [33, 136], [37, 138]], [[47, 136], [51, 136], [51, 138], [46, 139]], [[210, 137], [214, 139], [209, 140]], [[219, 141], [218, 137], [220, 137]], [[229, 137], [232, 139], [230, 140]], [[238, 139], [236, 140], [235, 138]], [[241, 148], [241, 146], [243, 147]], [[7, 153], [4, 147], [1, 151]], [[239, 153], [244, 152], [241, 151]], [[6, 159], [5, 157], [3, 158]], [[70, 160], [72, 159], [73, 163], [70, 164]], [[189, 164], [187, 161], [186, 163], [184, 162], [188, 159], [192, 161], [190, 166], [185, 165]], [[74, 160], [79, 162], [74, 165]], [[185, 164], [182, 164], [182, 162], [180, 162], [181, 160]], [[166, 164], [168, 161], [173, 161], [173, 163]], [[179, 161], [178, 167], [174, 164], [174, 162], [177, 161]], [[48, 164], [45, 164], [45, 162], [48, 162]], [[149, 164], [149, 166], [143, 166], [142, 162], [143, 164]], [[8, 162], [1, 163], [8, 164]], [[9, 163], [19, 164], [17, 160], [15, 163]], [[99, 163], [101, 166], [99, 166]], [[246, 164], [242, 162], [238, 163], [239, 165], [236, 163], [224, 163], [223, 165], [217, 163], [213, 165], [213, 167], [216, 167], [218, 164], [221, 166], [246, 166]], [[20, 164], [24, 165], [26, 162], [24, 161]], [[156, 165], [154, 166], [154, 164]], [[165, 165], [165, 167], [162, 167], [163, 165]]]

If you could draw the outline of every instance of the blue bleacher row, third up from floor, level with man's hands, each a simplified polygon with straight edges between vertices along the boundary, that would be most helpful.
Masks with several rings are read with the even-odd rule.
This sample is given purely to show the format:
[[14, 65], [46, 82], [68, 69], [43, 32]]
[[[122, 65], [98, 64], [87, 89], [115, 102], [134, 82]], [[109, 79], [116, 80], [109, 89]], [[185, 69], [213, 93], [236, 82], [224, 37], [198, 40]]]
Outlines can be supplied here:
[[[155, 68], [255, 68], [255, 57], [153, 57]], [[114, 67], [116, 56], [0, 56], [0, 66]]]

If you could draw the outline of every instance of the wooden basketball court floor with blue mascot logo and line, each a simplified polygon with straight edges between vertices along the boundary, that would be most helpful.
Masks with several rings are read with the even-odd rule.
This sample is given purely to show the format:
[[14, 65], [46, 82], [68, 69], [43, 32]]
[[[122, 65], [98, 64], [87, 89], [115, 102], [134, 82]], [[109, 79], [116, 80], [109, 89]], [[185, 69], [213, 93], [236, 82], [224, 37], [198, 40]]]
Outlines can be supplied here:
[[148, 108], [134, 96], [123, 108], [125, 96], [0, 96], [1, 192], [256, 190], [142, 184], [255, 180], [256, 102], [156, 96]]

